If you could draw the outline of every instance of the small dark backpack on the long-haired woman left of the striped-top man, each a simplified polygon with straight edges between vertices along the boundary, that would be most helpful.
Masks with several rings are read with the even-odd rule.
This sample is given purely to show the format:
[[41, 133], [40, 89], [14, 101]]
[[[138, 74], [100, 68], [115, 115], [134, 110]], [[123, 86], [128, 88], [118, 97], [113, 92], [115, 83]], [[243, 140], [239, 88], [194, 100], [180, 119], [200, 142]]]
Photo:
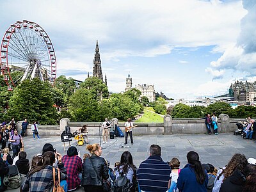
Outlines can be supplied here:
[[114, 182], [114, 192], [130, 192], [132, 184], [127, 179], [126, 175], [118, 170], [119, 176]]

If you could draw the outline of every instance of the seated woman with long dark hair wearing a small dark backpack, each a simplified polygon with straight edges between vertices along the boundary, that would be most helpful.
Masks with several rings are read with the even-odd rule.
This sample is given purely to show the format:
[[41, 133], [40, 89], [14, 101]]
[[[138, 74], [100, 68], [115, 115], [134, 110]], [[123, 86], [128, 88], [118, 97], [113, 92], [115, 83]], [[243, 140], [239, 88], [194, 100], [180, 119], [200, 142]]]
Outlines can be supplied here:
[[129, 151], [123, 152], [120, 164], [115, 168], [115, 170], [116, 178], [123, 173], [132, 184], [131, 192], [135, 191], [135, 184], [132, 182], [133, 180], [136, 180], [137, 168], [132, 162], [132, 154]]

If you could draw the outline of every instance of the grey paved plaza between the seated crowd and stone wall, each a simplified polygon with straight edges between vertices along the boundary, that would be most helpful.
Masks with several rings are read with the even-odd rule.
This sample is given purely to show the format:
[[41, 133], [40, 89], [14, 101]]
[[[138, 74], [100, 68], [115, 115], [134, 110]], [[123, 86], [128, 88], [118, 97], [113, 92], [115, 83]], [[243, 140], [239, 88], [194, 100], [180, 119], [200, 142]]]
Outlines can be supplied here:
[[[202, 163], [211, 163], [216, 167], [225, 166], [235, 153], [244, 154], [246, 158], [253, 157], [256, 159], [256, 141], [244, 140], [241, 136], [234, 136], [232, 133], [218, 134], [217, 136], [214, 134], [190, 134], [134, 136], [133, 138], [134, 145], [131, 145], [129, 138], [128, 145], [124, 145], [124, 138], [109, 139], [108, 144], [102, 144], [102, 157], [108, 159], [111, 168], [116, 161], [120, 161], [125, 150], [131, 152], [133, 162], [138, 167], [141, 161], [147, 159], [149, 147], [152, 144], [161, 146], [164, 161], [170, 161], [172, 157], [177, 157], [181, 162], [181, 168], [187, 163], [186, 154], [190, 150], [198, 152]], [[85, 145], [78, 146], [74, 138], [72, 139], [70, 144], [76, 146], [83, 157], [83, 154], [88, 152]], [[91, 144], [99, 143], [99, 137], [90, 137], [89, 141]], [[45, 143], [51, 143], [62, 155], [67, 154], [68, 143], [65, 143], [66, 152], [64, 152], [60, 137], [42, 137], [40, 140], [25, 137], [24, 143], [29, 159], [40, 153]]]

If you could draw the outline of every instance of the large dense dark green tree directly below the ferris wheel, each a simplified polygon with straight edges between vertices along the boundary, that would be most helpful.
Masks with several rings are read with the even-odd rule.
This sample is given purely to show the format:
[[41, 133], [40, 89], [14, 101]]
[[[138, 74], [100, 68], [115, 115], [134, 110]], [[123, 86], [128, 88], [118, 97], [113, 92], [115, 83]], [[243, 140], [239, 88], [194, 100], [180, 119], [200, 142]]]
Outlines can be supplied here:
[[28, 118], [40, 124], [56, 124], [56, 109], [53, 107], [51, 84], [40, 79], [23, 81], [13, 91], [8, 115], [17, 120]]

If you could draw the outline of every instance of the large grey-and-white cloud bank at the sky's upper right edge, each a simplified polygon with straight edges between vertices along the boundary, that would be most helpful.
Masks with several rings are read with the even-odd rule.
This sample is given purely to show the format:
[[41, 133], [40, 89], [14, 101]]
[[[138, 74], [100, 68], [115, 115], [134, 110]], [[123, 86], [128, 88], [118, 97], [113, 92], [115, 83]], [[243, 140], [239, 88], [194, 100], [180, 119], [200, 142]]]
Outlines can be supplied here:
[[[241, 20], [241, 33], [236, 45], [226, 49], [217, 61], [211, 62], [211, 66], [219, 71], [232, 68], [239, 72], [246, 72], [247, 76], [255, 76], [256, 26], [253, 23], [256, 20], [256, 1], [244, 0], [243, 6], [248, 13]], [[213, 75], [220, 76], [218, 72]]]

